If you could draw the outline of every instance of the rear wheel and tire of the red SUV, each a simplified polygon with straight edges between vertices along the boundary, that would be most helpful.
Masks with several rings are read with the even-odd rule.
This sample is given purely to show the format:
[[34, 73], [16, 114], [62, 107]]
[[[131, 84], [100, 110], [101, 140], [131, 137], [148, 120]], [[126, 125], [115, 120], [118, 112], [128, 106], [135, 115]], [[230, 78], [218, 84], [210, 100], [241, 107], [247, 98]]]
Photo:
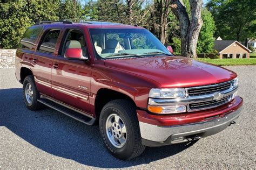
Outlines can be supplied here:
[[[28, 90], [28, 88], [29, 88], [29, 91], [26, 91]], [[28, 96], [29, 94], [31, 95]], [[42, 103], [39, 103], [37, 101], [39, 98], [40, 98], [40, 94], [36, 88], [33, 75], [26, 76], [23, 82], [23, 100], [25, 102], [26, 108], [28, 108], [29, 110], [41, 109]]]

